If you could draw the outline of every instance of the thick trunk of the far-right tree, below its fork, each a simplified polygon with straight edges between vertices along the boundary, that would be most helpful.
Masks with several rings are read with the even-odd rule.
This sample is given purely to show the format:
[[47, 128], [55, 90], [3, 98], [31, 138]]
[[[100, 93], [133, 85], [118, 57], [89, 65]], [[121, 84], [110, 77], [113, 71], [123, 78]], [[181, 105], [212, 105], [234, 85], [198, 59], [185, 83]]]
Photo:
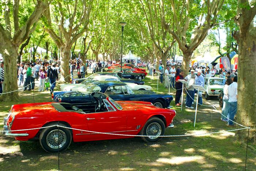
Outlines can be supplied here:
[[[256, 73], [256, 32], [240, 32], [238, 57], [238, 101], [237, 122], [244, 126], [251, 126], [249, 141], [256, 143], [256, 79], [252, 73]], [[237, 132], [240, 141], [247, 141], [248, 129]]]

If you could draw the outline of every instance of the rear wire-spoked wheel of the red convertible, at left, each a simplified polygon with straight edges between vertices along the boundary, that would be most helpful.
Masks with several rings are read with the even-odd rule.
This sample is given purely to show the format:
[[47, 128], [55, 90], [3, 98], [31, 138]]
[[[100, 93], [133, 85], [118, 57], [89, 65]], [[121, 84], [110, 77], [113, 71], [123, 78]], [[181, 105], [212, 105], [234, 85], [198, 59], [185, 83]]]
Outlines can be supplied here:
[[[57, 125], [57, 123], [53, 123], [47, 126]], [[67, 125], [59, 124], [60, 126], [67, 127]], [[59, 134], [59, 135], [58, 135]], [[60, 145], [57, 145], [57, 138], [59, 139]], [[42, 148], [47, 152], [59, 152], [64, 151], [69, 147], [72, 140], [72, 134], [70, 129], [62, 128], [62, 127], [50, 127], [45, 128], [40, 133], [39, 141]], [[60, 146], [60, 147], [59, 147]]]

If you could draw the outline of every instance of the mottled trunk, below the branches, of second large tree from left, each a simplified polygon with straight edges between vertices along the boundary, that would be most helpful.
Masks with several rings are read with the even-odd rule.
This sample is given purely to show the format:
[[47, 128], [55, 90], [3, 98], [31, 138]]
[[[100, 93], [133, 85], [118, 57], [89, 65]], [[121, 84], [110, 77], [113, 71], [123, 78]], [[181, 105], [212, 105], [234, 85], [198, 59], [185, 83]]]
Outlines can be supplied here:
[[61, 65], [61, 70], [60, 70], [60, 81], [65, 81], [65, 82], [70, 82], [70, 77], [69, 77], [69, 58], [70, 58], [70, 50], [71, 47], [62, 47], [60, 48], [60, 65]]

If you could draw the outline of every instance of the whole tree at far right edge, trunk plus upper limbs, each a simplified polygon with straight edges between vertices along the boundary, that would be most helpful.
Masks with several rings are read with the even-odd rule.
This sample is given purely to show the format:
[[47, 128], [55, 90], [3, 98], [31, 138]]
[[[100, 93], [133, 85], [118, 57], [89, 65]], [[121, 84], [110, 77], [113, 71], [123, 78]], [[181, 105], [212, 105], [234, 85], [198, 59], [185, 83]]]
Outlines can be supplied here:
[[[256, 78], [251, 77], [256, 72], [256, 27], [253, 19], [256, 15], [256, 1], [237, 1], [236, 22], [240, 28], [234, 37], [238, 42], [238, 101], [237, 119], [242, 125], [251, 126], [249, 141], [256, 143]], [[248, 130], [240, 130], [237, 137], [246, 141]]]

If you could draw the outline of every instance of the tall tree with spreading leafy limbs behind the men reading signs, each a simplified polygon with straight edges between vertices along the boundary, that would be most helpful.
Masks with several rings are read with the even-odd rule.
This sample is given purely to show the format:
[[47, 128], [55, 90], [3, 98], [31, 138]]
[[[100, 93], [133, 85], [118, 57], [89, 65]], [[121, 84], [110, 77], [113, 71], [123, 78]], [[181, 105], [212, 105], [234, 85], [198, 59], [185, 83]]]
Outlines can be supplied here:
[[[218, 13], [225, 0], [203, 0], [202, 5], [193, 0], [170, 0], [173, 21], [166, 23], [166, 8], [161, 0], [162, 21], [165, 30], [177, 40], [183, 53], [182, 70], [188, 74], [189, 62], [193, 51], [206, 38], [208, 31], [217, 24]], [[197, 10], [195, 10], [195, 8]], [[175, 23], [175, 28], [170, 27]], [[192, 30], [192, 34], [189, 32]]]

